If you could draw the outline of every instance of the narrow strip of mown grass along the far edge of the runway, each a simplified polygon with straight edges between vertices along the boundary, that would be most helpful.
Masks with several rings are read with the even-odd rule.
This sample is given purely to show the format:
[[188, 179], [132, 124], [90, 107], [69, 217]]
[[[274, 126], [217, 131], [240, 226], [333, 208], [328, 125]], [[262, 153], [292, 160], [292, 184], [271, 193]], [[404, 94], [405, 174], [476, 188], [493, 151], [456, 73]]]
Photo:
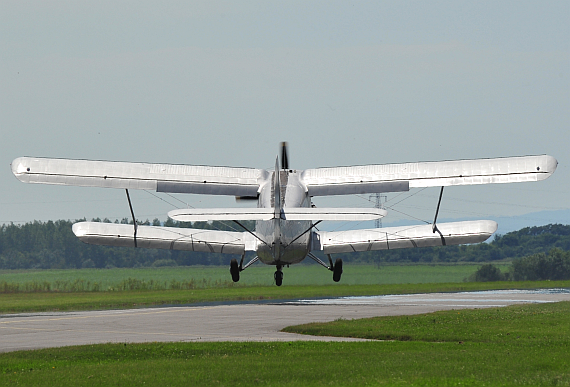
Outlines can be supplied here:
[[137, 308], [216, 301], [284, 300], [315, 297], [477, 291], [490, 289], [568, 288], [570, 281], [470, 282], [438, 284], [252, 286], [194, 290], [146, 290], [77, 293], [11, 293], [0, 296], [0, 313]]

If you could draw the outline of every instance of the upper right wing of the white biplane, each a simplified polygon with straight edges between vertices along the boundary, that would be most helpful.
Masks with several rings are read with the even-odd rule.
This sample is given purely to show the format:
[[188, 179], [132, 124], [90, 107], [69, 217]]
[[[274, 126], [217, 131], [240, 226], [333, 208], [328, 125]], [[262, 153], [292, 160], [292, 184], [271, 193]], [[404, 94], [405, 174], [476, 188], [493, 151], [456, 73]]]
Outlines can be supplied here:
[[407, 191], [442, 187], [544, 180], [558, 162], [552, 156], [437, 161], [307, 169], [302, 180], [310, 196]]

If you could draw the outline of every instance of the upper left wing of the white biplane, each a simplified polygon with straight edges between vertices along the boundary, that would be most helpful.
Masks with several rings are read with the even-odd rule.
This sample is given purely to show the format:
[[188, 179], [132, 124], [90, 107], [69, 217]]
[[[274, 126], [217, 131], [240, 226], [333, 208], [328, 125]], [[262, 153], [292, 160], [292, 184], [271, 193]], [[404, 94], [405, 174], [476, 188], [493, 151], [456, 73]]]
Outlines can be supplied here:
[[20, 157], [12, 172], [25, 183], [256, 196], [265, 170]]

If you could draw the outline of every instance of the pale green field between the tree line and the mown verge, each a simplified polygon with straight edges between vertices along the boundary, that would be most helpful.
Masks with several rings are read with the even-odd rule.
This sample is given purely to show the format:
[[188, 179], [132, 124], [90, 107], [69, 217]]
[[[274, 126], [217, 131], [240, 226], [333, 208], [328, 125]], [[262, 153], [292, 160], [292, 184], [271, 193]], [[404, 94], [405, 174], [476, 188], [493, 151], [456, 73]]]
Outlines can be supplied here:
[[[345, 264], [341, 284], [383, 285], [413, 283], [462, 282], [480, 265], [358, 265]], [[507, 270], [510, 264], [499, 264]], [[270, 286], [275, 268], [254, 265], [241, 273], [240, 282], [231, 282], [226, 266], [180, 266], [139, 269], [81, 269], [81, 270], [4, 270], [0, 271], [0, 292], [50, 290], [107, 291], [135, 290], [145, 287], [160, 290], [169, 288], [211, 288], [227, 286]], [[192, 286], [181, 287], [181, 284]], [[292, 265], [284, 269], [284, 286], [330, 285], [332, 273], [319, 265]], [[7, 292], [7, 291], [4, 291]]]

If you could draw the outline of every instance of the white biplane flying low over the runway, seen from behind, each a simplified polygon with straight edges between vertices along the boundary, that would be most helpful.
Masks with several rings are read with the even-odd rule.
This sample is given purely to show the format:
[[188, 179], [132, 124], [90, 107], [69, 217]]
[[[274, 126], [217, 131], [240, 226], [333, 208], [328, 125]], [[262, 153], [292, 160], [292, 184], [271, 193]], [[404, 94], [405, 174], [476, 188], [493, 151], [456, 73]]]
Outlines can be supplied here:
[[[290, 169], [286, 144], [281, 145], [275, 170], [48, 159], [21, 157], [12, 162], [12, 172], [25, 183], [75, 185], [125, 189], [133, 225], [80, 222], [75, 235], [85, 243], [170, 250], [188, 250], [241, 255], [232, 259], [230, 273], [239, 281], [240, 272], [256, 261], [274, 265], [275, 283], [283, 281], [284, 266], [310, 257], [333, 272], [338, 282], [342, 260], [331, 254], [425, 246], [478, 243], [497, 229], [490, 220], [385, 227], [339, 232], [319, 231], [322, 221], [365, 221], [387, 214], [382, 208], [315, 208], [313, 196], [402, 192], [418, 187], [539, 181], [548, 178], [558, 162], [552, 156], [421, 162]], [[168, 216], [177, 221], [233, 221], [243, 232], [137, 225], [129, 189], [167, 193], [231, 195], [257, 200], [257, 208], [180, 209]], [[241, 221], [255, 221], [247, 229]], [[244, 265], [246, 251], [256, 256]], [[328, 257], [328, 264], [314, 252]]]

